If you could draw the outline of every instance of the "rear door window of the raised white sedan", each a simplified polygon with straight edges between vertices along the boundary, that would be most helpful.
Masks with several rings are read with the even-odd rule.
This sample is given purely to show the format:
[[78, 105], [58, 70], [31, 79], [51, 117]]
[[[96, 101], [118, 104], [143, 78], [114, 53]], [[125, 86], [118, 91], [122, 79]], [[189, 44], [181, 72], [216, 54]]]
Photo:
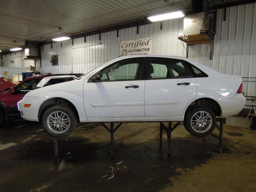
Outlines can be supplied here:
[[185, 78], [186, 68], [180, 60], [171, 58], [150, 58], [148, 78]]

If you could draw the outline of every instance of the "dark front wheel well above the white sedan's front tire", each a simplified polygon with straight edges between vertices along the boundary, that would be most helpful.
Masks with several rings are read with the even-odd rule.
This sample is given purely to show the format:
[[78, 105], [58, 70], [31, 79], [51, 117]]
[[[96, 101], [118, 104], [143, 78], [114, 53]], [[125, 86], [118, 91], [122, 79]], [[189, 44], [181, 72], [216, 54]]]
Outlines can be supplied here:
[[74, 106], [74, 104], [72, 104], [72, 102], [70, 102], [69, 100], [67, 100], [66, 98], [62, 98], [62, 97], [53, 97], [53, 98], [49, 98], [48, 100], [45, 100], [39, 110], [38, 110], [38, 121], [40, 122], [42, 120], [42, 116], [44, 114], [44, 112], [50, 108], [53, 105], [68, 105], [70, 106], [70, 108], [72, 108], [76, 114], [76, 118], [78, 120], [78, 122], [80, 122], [80, 118], [79, 118], [79, 114], [78, 114], [78, 110], [76, 109], [76, 107]]

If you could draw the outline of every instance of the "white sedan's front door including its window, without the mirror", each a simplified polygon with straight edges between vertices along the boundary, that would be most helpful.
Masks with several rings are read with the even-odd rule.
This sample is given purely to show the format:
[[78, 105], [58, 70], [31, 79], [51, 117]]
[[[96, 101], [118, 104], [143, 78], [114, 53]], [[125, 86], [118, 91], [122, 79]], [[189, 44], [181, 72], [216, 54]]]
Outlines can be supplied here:
[[92, 80], [94, 74], [84, 83], [84, 106], [89, 122], [144, 118], [144, 60], [145, 56], [141, 56], [114, 62], [96, 72], [100, 82]]

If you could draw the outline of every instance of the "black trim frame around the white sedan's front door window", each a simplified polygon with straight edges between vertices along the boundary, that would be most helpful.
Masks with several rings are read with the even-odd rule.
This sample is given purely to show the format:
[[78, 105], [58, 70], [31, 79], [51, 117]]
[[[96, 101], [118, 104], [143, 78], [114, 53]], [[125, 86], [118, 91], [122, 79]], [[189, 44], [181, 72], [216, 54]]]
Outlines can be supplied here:
[[[134, 57], [134, 58], [144, 58], [143, 66], [142, 66], [142, 75], [141, 75], [141, 78], [140, 78], [140, 79], [105, 80], [105, 81], [100, 81], [100, 82], [141, 81], [141, 80], [145, 80], [145, 71], [146, 71], [146, 67], [145, 67], [145, 66], [146, 66], [146, 62], [147, 62], [148, 56], [145, 56], [145, 57]], [[128, 59], [130, 59], [130, 58], [128, 58]], [[126, 60], [126, 59], [124, 59], [124, 60]], [[122, 60], [119, 60], [119, 61], [117, 61], [117, 62], [120, 62], [120, 61], [122, 61]], [[112, 64], [115, 64], [115, 63], [116, 63], [116, 62], [114, 62], [114, 63], [112, 63]], [[112, 65], [112, 64], [110, 64], [110, 65]], [[110, 65], [108, 65], [108, 66], [110, 66]], [[103, 68], [102, 70], [106, 69], [108, 66], [106, 66], [106, 67]], [[102, 70], [97, 71], [96, 73], [92, 74], [92, 76], [90, 76], [90, 78], [88, 79], [87, 82], [88, 82], [88, 83], [95, 83], [95, 82], [92, 80], [92, 78], [93, 78], [95, 75], [100, 74], [100, 72], [101, 72]]]

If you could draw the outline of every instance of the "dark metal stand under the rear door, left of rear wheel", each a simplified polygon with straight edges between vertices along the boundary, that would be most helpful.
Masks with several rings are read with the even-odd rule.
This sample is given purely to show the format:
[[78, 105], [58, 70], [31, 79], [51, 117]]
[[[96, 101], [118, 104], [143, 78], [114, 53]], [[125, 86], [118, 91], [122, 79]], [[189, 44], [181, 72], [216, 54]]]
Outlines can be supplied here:
[[160, 138], [159, 138], [159, 147], [162, 147], [162, 132], [163, 130], [166, 132], [167, 135], [167, 142], [168, 142], [168, 150], [167, 154], [171, 154], [171, 139], [172, 139], [172, 131], [180, 124], [181, 122], [177, 122], [172, 127], [172, 122], [168, 122], [168, 128], [164, 125], [163, 122], [160, 122]]

